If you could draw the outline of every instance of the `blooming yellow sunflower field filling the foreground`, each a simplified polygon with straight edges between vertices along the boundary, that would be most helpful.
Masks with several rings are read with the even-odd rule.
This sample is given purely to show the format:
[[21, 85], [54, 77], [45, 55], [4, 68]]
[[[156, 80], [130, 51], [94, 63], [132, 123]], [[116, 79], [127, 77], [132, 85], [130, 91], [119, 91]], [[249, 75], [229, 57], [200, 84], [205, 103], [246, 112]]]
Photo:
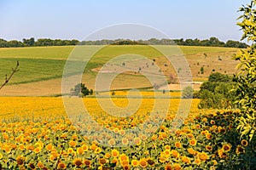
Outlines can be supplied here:
[[[172, 128], [179, 99], [172, 99], [164, 122], [148, 138], [125, 136], [125, 129], [139, 126], [148, 115], [147, 105], [134, 116], [103, 116], [96, 99], [84, 105], [102, 126], [122, 133], [123, 146], [89, 139], [65, 112], [61, 98], [0, 98], [1, 169], [250, 169], [256, 167], [255, 139], [240, 139], [238, 111], [198, 110], [193, 99], [183, 125]], [[116, 105], [126, 105], [115, 99]], [[91, 106], [91, 107], [90, 107]], [[149, 129], [152, 128], [148, 125]], [[87, 127], [91, 128], [91, 127]], [[128, 144], [133, 140], [134, 144]], [[125, 146], [127, 144], [127, 146]]]

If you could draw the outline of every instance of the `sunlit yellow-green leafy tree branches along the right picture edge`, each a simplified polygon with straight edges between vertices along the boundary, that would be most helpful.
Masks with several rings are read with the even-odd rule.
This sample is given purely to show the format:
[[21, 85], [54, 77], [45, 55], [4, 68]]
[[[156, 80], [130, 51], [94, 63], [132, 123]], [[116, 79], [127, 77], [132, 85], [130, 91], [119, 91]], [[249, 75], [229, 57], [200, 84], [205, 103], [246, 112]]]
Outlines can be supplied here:
[[240, 108], [241, 115], [236, 117], [239, 122], [237, 129], [241, 137], [246, 136], [250, 140], [255, 138], [256, 131], [256, 0], [252, 0], [247, 6], [239, 9], [243, 14], [237, 25], [241, 27], [243, 35], [241, 40], [247, 39], [252, 45], [246, 50], [241, 50], [233, 59], [239, 60], [237, 65], [239, 72], [234, 77], [236, 82], [233, 92], [236, 94], [235, 104]]

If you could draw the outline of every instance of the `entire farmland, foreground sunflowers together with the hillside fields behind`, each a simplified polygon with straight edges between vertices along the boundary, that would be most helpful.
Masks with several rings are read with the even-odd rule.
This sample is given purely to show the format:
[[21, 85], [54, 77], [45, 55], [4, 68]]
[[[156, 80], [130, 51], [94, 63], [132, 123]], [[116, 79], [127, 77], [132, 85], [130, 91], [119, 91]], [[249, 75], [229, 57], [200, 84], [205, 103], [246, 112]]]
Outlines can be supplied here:
[[[125, 71], [113, 79], [110, 88], [114, 94], [98, 91], [86, 98], [53, 97], [61, 94], [62, 71], [68, 56], [73, 55], [71, 64], [79, 65], [81, 54], [91, 54], [99, 47], [74, 48], [0, 48], [1, 77], [9, 74], [17, 60], [20, 62], [20, 71], [0, 92], [3, 168], [214, 169], [254, 163], [238, 161], [253, 156], [255, 145], [239, 139], [234, 127], [238, 111], [199, 110], [200, 99], [181, 99], [178, 83], [170, 84], [170, 92], [153, 90], [148, 88], [152, 84], [147, 77]], [[165, 51], [170, 47], [158, 48]], [[238, 51], [236, 48], [180, 49], [188, 59], [195, 82], [206, 81], [214, 71], [234, 73], [236, 61], [230, 58]], [[129, 54], [125, 65], [118, 64], [122, 58], [106, 64], [122, 54]], [[129, 68], [131, 61], [145, 71], [153, 68], [153, 64], [137, 59], [138, 55], [159, 65], [166, 77], [176, 74], [170, 61], [155, 48], [108, 46], [93, 55], [82, 80], [88, 88], [95, 89], [97, 74], [108, 77], [113, 70]], [[167, 55], [179, 56], [180, 51], [173, 48]], [[102, 65], [107, 65], [107, 70], [102, 71]], [[156, 77], [158, 72], [154, 71]], [[70, 77], [75, 77], [76, 68], [71, 73]], [[198, 88], [194, 86], [195, 90]]]

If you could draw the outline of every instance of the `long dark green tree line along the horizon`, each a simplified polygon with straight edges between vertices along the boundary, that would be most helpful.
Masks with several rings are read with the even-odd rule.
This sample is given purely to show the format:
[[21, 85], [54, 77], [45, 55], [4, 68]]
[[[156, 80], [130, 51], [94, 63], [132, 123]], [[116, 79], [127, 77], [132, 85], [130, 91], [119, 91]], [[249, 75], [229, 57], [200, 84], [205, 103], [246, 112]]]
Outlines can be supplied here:
[[61, 40], [61, 39], [49, 39], [40, 38], [37, 41], [34, 37], [23, 38], [22, 42], [17, 40], [6, 41], [0, 39], [0, 48], [18, 48], [18, 47], [39, 47], [39, 46], [68, 46], [68, 45], [183, 45], [183, 46], [208, 46], [208, 47], [228, 47], [228, 48], [247, 48], [248, 45], [244, 42], [238, 42], [228, 40], [227, 42], [221, 42], [217, 37], [210, 37], [209, 39], [156, 39], [151, 38], [148, 40], [132, 41], [129, 39], [116, 39], [116, 40], [96, 40], [96, 41], [79, 41], [79, 40]]

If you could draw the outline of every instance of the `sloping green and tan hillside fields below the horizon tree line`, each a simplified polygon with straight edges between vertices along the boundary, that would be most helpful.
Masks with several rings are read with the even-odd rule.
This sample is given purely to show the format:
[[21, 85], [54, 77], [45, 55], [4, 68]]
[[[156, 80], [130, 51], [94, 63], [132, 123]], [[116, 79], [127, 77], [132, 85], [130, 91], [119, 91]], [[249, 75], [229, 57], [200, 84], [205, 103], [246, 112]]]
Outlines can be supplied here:
[[[155, 59], [156, 64], [164, 71], [166, 69], [164, 63], [167, 60], [159, 49], [165, 51], [165, 54], [169, 56], [183, 53], [189, 61], [194, 81], [205, 81], [212, 71], [233, 74], [236, 62], [230, 58], [239, 50], [237, 48], [184, 46], [177, 48], [174, 46], [151, 47], [143, 45], [100, 48], [100, 50], [98, 50], [99, 46], [0, 48], [0, 80], [4, 81], [5, 74], [9, 75], [11, 68], [15, 67], [15, 62], [20, 61], [20, 71], [15, 73], [15, 76], [8, 86], [3, 88], [0, 95], [40, 95], [42, 91], [44, 91], [42, 95], [60, 94], [62, 71], [70, 54], [74, 56], [72, 61], [74, 63], [83, 56], [93, 55], [89, 65], [86, 65], [83, 81], [89, 88], [94, 88], [97, 72], [93, 70], [100, 69], [109, 59], [122, 54], [138, 54], [148, 59]], [[95, 54], [96, 50], [98, 51]], [[135, 59], [135, 57], [132, 56], [131, 59]], [[201, 67], [204, 68], [204, 74], [200, 73]], [[166, 75], [171, 70], [166, 70]], [[124, 82], [128, 83], [125, 84]], [[49, 84], [51, 85], [49, 86]], [[143, 88], [148, 87], [148, 85], [150, 84], [142, 75], [123, 73], [113, 81], [112, 88]]]

